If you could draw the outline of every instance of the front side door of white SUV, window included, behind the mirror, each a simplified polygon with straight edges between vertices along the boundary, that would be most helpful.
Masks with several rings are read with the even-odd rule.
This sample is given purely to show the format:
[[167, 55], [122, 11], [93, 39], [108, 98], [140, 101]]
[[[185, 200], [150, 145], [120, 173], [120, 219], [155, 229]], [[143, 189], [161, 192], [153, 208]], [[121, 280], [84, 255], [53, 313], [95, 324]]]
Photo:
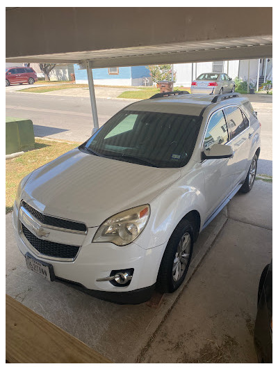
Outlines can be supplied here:
[[[225, 145], [229, 132], [222, 109], [215, 111], [208, 120], [203, 150], [213, 144]], [[206, 194], [206, 219], [221, 205], [234, 188], [234, 157], [228, 159], [205, 159], [202, 161]]]

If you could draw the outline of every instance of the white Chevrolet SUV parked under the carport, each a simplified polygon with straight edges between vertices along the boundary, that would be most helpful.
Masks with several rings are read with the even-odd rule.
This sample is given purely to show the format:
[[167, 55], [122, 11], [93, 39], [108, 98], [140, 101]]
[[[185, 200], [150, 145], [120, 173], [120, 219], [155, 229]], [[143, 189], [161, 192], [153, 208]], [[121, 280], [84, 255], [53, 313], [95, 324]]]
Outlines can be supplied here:
[[13, 211], [28, 268], [95, 297], [140, 303], [183, 282], [193, 243], [252, 189], [260, 123], [236, 93], [160, 93], [24, 177]]

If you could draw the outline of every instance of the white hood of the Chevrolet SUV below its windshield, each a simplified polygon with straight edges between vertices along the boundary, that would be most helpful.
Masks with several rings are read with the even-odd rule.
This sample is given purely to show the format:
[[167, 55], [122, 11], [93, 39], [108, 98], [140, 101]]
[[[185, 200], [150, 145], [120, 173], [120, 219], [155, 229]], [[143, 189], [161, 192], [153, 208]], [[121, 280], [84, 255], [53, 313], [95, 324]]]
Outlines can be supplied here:
[[179, 168], [154, 168], [71, 150], [35, 170], [22, 198], [44, 214], [99, 226], [109, 216], [154, 197], [181, 176]]

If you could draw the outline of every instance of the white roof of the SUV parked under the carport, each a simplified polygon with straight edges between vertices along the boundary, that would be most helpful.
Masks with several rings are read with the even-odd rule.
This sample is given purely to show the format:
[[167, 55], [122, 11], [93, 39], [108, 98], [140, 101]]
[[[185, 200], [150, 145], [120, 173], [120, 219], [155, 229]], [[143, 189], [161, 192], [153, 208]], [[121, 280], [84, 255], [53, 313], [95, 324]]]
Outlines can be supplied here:
[[141, 100], [125, 107], [127, 111], [149, 111], [162, 113], [177, 113], [181, 115], [199, 116], [207, 106], [221, 108], [228, 104], [243, 104], [247, 101], [246, 97], [237, 93], [236, 97], [211, 102], [216, 95], [209, 94], [181, 94], [157, 97], [148, 100]]

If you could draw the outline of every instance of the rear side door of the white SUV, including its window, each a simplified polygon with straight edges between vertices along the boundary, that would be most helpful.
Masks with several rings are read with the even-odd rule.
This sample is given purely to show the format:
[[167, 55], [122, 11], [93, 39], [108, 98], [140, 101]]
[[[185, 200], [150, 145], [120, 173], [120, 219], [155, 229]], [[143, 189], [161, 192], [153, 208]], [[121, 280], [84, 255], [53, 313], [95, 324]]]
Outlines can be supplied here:
[[238, 106], [227, 106], [224, 108], [227, 120], [229, 145], [233, 147], [235, 159], [235, 184], [244, 180], [248, 171], [249, 152], [250, 152], [250, 123], [245, 113]]

